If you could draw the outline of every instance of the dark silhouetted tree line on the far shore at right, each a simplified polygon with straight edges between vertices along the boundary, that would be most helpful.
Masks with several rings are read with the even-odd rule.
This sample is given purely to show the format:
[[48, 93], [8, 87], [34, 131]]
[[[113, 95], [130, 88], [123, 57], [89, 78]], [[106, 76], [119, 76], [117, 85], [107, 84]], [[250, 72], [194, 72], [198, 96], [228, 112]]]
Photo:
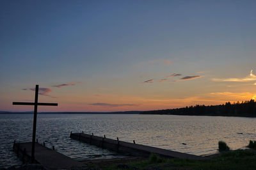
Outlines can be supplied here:
[[222, 105], [195, 105], [178, 109], [165, 109], [158, 111], [144, 111], [140, 114], [175, 114], [198, 116], [245, 116], [256, 117], [256, 102], [254, 100]]

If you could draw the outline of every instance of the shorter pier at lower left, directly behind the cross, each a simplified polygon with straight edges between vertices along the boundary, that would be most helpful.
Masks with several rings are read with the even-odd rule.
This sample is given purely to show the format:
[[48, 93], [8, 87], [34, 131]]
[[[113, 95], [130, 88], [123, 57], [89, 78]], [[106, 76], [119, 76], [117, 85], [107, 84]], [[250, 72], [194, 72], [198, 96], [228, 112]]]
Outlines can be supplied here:
[[[32, 143], [14, 143], [13, 150], [18, 157], [22, 158], [22, 162], [28, 163], [31, 160]], [[70, 169], [72, 167], [82, 167], [84, 164], [67, 157], [57, 151], [50, 150], [39, 143], [35, 143], [35, 162], [49, 169]]]

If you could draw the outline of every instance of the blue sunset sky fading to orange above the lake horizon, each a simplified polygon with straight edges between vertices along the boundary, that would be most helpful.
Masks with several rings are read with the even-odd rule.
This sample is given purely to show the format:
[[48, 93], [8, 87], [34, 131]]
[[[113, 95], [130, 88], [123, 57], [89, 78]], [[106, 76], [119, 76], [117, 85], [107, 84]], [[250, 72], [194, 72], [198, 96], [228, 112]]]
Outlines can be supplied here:
[[256, 100], [256, 1], [0, 1], [0, 111]]

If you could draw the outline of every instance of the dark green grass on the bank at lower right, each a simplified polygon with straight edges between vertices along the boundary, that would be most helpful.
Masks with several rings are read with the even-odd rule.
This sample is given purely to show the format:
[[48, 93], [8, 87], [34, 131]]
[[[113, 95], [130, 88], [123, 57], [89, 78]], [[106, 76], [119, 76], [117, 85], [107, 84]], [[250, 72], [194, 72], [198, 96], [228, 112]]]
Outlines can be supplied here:
[[[221, 153], [219, 157], [205, 160], [161, 158], [155, 154], [148, 160], [130, 162], [125, 169], [256, 169], [256, 151], [236, 150]], [[100, 167], [118, 169], [117, 165]]]

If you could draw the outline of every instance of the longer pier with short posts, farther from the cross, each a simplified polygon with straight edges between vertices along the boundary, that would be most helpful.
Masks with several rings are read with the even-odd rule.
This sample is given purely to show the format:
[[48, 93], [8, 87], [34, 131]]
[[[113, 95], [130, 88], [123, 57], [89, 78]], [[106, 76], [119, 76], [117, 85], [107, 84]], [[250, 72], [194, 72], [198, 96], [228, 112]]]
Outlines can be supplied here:
[[82, 141], [84, 143], [92, 144], [95, 146], [99, 146], [101, 148], [106, 148], [108, 150], [113, 150], [118, 153], [129, 154], [132, 156], [139, 156], [139, 157], [149, 157], [151, 153], [156, 153], [159, 156], [166, 157], [166, 158], [189, 158], [189, 159], [204, 159], [204, 157], [191, 155], [188, 153], [180, 153], [178, 151], [170, 151], [164, 150], [161, 148], [156, 148], [152, 146], [145, 146], [142, 144], [135, 144], [135, 143], [127, 143], [124, 141], [108, 139], [106, 137], [99, 137], [90, 134], [83, 134], [83, 133], [71, 133], [70, 137], [72, 139], [76, 139]]

